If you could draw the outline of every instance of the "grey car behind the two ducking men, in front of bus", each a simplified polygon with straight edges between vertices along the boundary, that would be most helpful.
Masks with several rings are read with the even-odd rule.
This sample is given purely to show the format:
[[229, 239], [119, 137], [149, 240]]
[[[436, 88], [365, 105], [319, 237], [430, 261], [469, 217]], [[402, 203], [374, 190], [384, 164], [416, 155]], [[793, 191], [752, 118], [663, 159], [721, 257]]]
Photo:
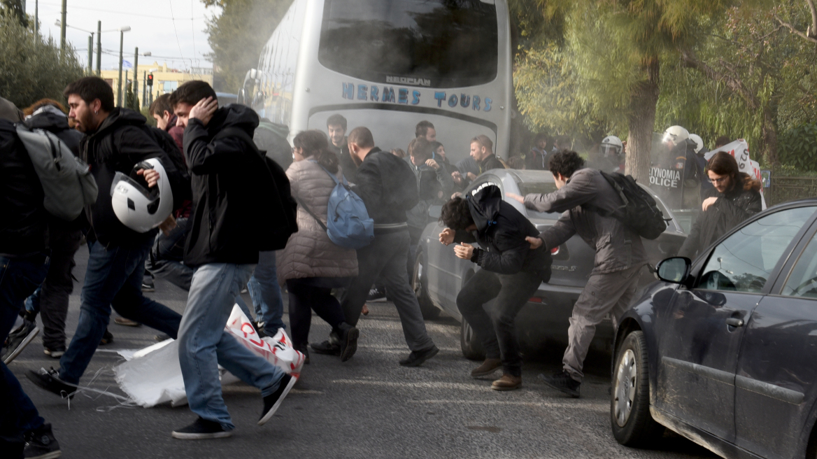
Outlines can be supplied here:
[[[556, 191], [553, 175], [547, 171], [516, 171], [510, 169], [495, 169], [484, 172], [474, 180], [466, 191], [470, 191], [486, 182], [492, 182], [502, 193], [529, 194], [551, 193]], [[649, 188], [643, 187], [650, 191]], [[681, 233], [681, 226], [663, 207], [660, 199], [650, 191], [659, 203], [664, 216], [669, 219], [667, 230], [654, 241], [645, 240], [645, 247], [650, 254], [650, 263], [655, 265], [667, 256], [675, 255], [686, 235]], [[513, 199], [506, 199], [517, 210], [528, 216], [530, 221], [541, 231], [559, 220], [559, 213], [543, 213], [526, 209]], [[471, 261], [461, 260], [454, 256], [453, 246], [445, 247], [440, 244], [439, 234], [444, 230], [437, 219], [440, 207], [432, 208], [431, 216], [434, 222], [426, 226], [417, 249], [417, 259], [414, 264], [412, 279], [414, 292], [426, 319], [434, 319], [440, 310], [444, 310], [453, 318], [458, 319], [461, 326], [462, 354], [469, 359], [483, 359], [484, 351], [475, 340], [471, 327], [462, 320], [457, 308], [457, 295], [462, 285], [478, 269]], [[574, 236], [562, 244], [553, 254], [553, 274], [549, 283], [542, 283], [536, 296], [531, 298], [525, 308], [520, 311], [516, 319], [516, 331], [520, 342], [528, 348], [536, 348], [545, 341], [567, 342], [567, 328], [573, 305], [578, 295], [587, 283], [587, 276], [593, 269], [595, 252], [587, 246], [582, 238]], [[648, 285], [654, 281], [649, 270], [644, 270], [642, 284]], [[612, 350], [613, 327], [605, 320], [596, 329], [594, 346]]]

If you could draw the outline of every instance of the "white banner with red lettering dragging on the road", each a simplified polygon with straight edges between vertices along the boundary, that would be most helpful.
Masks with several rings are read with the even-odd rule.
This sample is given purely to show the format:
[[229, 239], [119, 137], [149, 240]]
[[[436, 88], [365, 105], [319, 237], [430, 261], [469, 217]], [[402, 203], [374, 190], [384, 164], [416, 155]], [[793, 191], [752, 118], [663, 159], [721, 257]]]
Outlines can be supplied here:
[[[241, 312], [239, 305], [234, 305], [225, 330], [249, 350], [284, 372], [295, 377], [300, 375], [304, 354], [292, 348], [292, 341], [283, 328], [273, 337], [258, 338], [250, 320]], [[134, 402], [144, 408], [167, 402], [174, 407], [187, 404], [177, 341], [167, 340], [136, 351], [122, 350], [119, 354], [127, 362], [114, 367], [114, 375], [119, 387]], [[239, 381], [239, 378], [223, 368], [220, 367], [219, 370], [221, 385]]]

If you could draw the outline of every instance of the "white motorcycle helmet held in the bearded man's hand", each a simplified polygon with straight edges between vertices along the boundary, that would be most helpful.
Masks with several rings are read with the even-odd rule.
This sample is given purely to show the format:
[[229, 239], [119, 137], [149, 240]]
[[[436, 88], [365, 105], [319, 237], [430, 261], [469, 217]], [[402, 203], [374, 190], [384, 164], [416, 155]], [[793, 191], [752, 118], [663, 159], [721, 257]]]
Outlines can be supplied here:
[[[158, 172], [155, 186], [148, 188], [145, 179], [136, 175], [136, 171], [140, 169], [154, 169]], [[153, 230], [167, 220], [173, 211], [170, 180], [167, 180], [162, 163], [155, 158], [136, 164], [131, 176], [117, 172], [110, 187], [110, 196], [119, 221], [137, 233]]]

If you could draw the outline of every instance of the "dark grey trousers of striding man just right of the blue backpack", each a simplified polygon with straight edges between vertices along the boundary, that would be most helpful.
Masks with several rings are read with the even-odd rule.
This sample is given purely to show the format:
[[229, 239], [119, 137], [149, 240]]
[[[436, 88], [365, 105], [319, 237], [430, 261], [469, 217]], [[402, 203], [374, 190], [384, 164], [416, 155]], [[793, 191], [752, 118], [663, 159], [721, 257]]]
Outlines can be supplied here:
[[360, 311], [368, 297], [375, 279], [381, 277], [386, 284], [391, 301], [394, 301], [403, 335], [410, 350], [428, 350], [434, 345], [426, 332], [417, 296], [408, 285], [406, 256], [408, 256], [408, 231], [374, 235], [371, 244], [357, 251], [358, 276], [352, 280], [343, 299], [343, 315], [346, 323], [356, 325]]

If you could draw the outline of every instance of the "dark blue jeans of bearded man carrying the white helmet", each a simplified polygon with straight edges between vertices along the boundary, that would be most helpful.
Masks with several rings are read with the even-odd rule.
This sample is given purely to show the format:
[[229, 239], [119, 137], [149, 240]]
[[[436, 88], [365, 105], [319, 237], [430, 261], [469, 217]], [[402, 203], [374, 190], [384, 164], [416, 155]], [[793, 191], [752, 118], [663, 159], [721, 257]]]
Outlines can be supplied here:
[[78, 384], [91, 362], [110, 320], [110, 309], [125, 319], [144, 323], [175, 338], [181, 315], [142, 295], [142, 276], [151, 239], [136, 247], [88, 244], [88, 268], [79, 309], [79, 323], [60, 359], [60, 379]]

